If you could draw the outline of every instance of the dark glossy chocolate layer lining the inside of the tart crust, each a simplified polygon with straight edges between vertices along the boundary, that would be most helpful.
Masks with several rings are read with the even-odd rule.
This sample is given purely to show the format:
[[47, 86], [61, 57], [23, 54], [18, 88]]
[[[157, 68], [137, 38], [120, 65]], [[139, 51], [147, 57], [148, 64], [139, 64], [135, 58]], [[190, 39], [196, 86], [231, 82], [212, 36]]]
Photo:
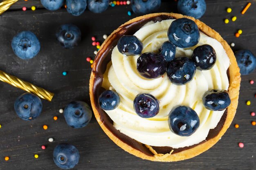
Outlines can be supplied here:
[[[113, 121], [110, 119], [108, 114], [106, 114], [106, 112], [99, 107], [98, 97], [105, 90], [101, 87], [103, 82], [103, 74], [106, 71], [107, 64], [111, 60], [112, 49], [117, 45], [117, 41], [119, 40], [119, 38], [121, 38], [121, 36], [123, 35], [133, 35], [136, 31], [138, 31], [141, 28], [141, 26], [143, 26], [147, 22], [150, 22], [150, 21], [157, 22], [157, 21], [168, 20], [168, 19], [175, 19], [175, 18], [172, 18], [168, 15], [158, 15], [151, 18], [144, 18], [139, 21], [121, 26], [120, 27], [121, 29], [118, 32], [112, 34], [112, 36], [110, 37], [110, 40], [108, 40], [110, 44], [108, 44], [107, 47], [104, 47], [104, 51], [99, 52], [97, 54], [94, 60], [94, 67], [92, 69], [93, 73], [95, 73], [94, 86], [93, 86], [94, 103], [96, 104], [96, 109], [100, 114], [101, 121], [108, 128], [108, 130], [110, 130], [113, 133], [113, 135], [115, 135], [121, 141], [128, 144], [132, 148], [135, 148], [141, 152], [144, 152], [146, 155], [149, 155], [149, 156], [154, 156], [154, 154], [148, 148], [146, 148], [144, 144], [141, 144], [140, 142], [128, 137], [127, 135], [124, 135], [113, 126]], [[216, 128], [211, 129], [209, 131], [207, 138], [204, 141], [200, 142], [199, 144], [202, 144], [205, 141], [216, 137], [220, 132], [220, 130], [222, 129], [226, 118], [227, 118], [227, 110], [222, 115]], [[152, 146], [152, 148], [156, 150], [157, 153], [162, 153], [162, 154], [170, 153], [171, 150], [174, 150], [172, 154], [175, 154], [177, 152], [181, 152], [183, 150], [198, 146], [199, 144], [195, 144], [193, 146], [188, 146], [184, 148], [177, 148], [177, 149], [174, 149], [168, 146], [163, 146], [163, 147]]]

